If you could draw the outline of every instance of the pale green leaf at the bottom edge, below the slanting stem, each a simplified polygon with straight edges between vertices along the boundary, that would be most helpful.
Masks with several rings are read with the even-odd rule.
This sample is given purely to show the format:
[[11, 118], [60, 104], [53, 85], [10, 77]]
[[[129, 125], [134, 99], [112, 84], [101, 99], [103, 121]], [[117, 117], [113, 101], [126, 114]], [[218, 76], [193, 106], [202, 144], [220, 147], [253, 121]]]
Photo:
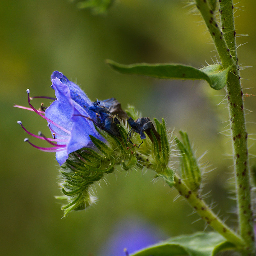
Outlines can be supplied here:
[[220, 251], [234, 249], [219, 233], [196, 233], [174, 237], [151, 247], [147, 247], [131, 256], [213, 256]]

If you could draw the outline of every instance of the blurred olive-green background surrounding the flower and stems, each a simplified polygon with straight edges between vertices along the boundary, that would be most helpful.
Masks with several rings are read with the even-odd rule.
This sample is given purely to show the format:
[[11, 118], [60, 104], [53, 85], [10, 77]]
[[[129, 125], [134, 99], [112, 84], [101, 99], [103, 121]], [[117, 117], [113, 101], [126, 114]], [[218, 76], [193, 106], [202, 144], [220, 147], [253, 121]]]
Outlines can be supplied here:
[[[132, 104], [143, 116], [164, 117], [175, 134], [187, 131], [197, 156], [208, 151], [202, 159], [208, 164], [202, 194], [212, 196], [205, 200], [236, 228], [225, 90], [214, 91], [206, 82], [122, 75], [105, 64], [106, 59], [198, 68], [213, 64], [216, 52], [210, 35], [200, 16], [189, 14], [185, 5], [180, 0], [119, 0], [107, 14], [97, 16], [66, 0], [0, 1], [1, 255], [104, 256], [107, 248], [115, 246], [111, 243], [116, 230], [123, 227], [125, 234], [133, 220], [151, 227], [159, 239], [205, 228], [184, 200], [174, 201], [177, 191], [162, 180], [152, 182], [152, 171], [109, 174], [108, 186], [101, 181], [95, 188], [95, 206], [62, 219], [61, 205], [54, 198], [61, 195], [55, 154], [24, 143], [28, 135], [17, 124], [20, 120], [30, 132], [49, 136], [46, 121], [34, 112], [12, 107], [28, 106], [28, 88], [31, 96], [54, 97], [50, 88], [54, 70], [81, 85], [92, 101], [115, 97], [123, 108]], [[237, 36], [249, 35], [237, 37], [237, 44], [244, 44], [238, 48], [241, 67], [252, 66], [241, 71], [244, 93], [256, 95], [255, 1], [235, 7], [239, 7], [235, 9]], [[255, 96], [244, 98], [252, 134], [251, 164], [256, 154], [255, 100]], [[41, 102], [32, 101], [36, 108]], [[44, 100], [45, 106], [49, 103]]]

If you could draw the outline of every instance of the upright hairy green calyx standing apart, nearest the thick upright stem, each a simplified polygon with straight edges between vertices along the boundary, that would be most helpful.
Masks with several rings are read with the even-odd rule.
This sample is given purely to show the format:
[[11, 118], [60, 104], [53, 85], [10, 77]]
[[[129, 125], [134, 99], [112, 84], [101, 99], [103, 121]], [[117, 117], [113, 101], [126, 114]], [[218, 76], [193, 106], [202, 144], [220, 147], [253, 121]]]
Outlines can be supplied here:
[[182, 179], [187, 184], [188, 188], [194, 191], [198, 189], [201, 184], [201, 171], [191, 148], [188, 134], [180, 131], [180, 135], [182, 141], [178, 138], [175, 138], [175, 141], [181, 153], [180, 164]]

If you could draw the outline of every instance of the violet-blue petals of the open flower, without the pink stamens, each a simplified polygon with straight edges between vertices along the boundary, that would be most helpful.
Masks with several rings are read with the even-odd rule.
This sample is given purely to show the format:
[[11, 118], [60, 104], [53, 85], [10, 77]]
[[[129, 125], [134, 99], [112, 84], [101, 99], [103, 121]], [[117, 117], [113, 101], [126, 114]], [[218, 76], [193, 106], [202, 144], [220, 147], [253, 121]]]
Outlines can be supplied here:
[[[58, 71], [54, 71], [51, 78], [51, 87], [55, 91], [57, 100], [53, 101], [46, 109], [45, 116], [70, 131], [66, 148], [56, 151], [57, 162], [61, 165], [68, 159], [69, 153], [80, 148], [93, 147], [89, 135], [100, 140], [104, 139], [96, 131], [93, 122], [84, 117], [96, 119], [96, 113], [88, 109], [92, 102], [86, 94]], [[56, 133], [55, 137], [58, 139], [67, 138], [69, 135], [52, 124], [51, 129], [52, 133]]]

